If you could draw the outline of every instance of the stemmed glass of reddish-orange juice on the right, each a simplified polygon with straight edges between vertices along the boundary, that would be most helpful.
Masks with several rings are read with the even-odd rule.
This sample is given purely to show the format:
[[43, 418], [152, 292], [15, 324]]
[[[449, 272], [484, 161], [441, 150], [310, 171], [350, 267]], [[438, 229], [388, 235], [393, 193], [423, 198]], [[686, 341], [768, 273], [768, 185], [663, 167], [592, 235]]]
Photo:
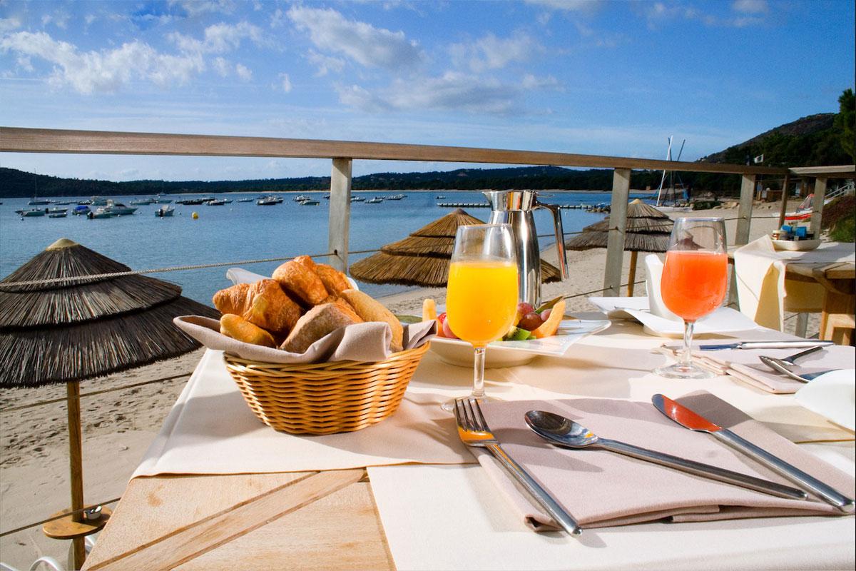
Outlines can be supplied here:
[[693, 327], [722, 305], [728, 285], [728, 254], [722, 218], [678, 218], [669, 238], [660, 294], [669, 311], [684, 320], [684, 347], [677, 363], [655, 372], [668, 378], [710, 378], [693, 365]]

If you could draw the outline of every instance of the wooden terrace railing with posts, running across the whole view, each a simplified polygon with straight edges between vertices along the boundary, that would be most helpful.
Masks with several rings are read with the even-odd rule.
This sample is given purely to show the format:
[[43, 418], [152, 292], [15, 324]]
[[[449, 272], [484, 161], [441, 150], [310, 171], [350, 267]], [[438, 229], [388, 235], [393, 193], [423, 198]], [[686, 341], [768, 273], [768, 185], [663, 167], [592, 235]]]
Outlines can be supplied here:
[[[673, 170], [736, 174], [741, 176], [735, 244], [746, 244], [752, 222], [752, 198], [758, 175], [812, 177], [816, 204], [823, 205], [827, 178], [853, 176], [853, 165], [791, 169], [744, 164], [687, 163], [647, 158], [607, 157], [563, 152], [510, 151], [461, 146], [402, 145], [344, 140], [275, 139], [193, 134], [122, 133], [0, 127], [0, 152], [48, 152], [122, 155], [177, 155], [199, 157], [328, 158], [330, 173], [329, 247], [336, 253], [333, 265], [348, 267], [348, 234], [351, 206], [351, 172], [354, 159], [433, 161], [448, 163], [528, 164], [613, 169], [612, 200], [603, 288], [618, 295], [624, 253], [627, 197], [631, 170]], [[811, 170], [814, 169], [814, 170]], [[782, 216], [787, 203], [782, 193]], [[820, 227], [820, 212], [812, 217], [812, 229]]]

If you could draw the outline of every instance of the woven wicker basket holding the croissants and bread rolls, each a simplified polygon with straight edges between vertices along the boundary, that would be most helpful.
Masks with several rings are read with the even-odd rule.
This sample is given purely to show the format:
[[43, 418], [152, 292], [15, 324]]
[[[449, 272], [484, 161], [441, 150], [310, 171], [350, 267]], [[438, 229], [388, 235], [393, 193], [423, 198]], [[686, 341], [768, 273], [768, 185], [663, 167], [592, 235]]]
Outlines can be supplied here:
[[431, 343], [382, 361], [282, 365], [223, 354], [226, 369], [265, 425], [292, 434], [359, 431], [395, 413]]

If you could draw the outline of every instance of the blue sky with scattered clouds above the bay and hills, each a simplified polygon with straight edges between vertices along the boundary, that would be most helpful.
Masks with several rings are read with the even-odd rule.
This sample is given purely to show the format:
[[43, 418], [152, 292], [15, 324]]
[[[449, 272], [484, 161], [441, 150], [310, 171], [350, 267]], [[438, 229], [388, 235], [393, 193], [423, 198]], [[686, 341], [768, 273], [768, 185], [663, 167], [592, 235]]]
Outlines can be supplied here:
[[[835, 111], [852, 0], [0, 0], [0, 125], [684, 159]], [[0, 154], [110, 180], [329, 161]], [[354, 174], [458, 164], [358, 161]]]

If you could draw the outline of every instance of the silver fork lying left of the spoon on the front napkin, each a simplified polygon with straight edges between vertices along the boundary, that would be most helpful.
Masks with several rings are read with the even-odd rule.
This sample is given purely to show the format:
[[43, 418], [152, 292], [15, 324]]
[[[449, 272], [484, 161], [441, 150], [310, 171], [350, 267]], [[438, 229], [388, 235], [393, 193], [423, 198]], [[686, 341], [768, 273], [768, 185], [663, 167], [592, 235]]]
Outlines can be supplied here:
[[455, 399], [455, 421], [458, 425], [458, 436], [461, 437], [461, 442], [467, 446], [487, 449], [502, 464], [502, 467], [505, 467], [508, 473], [514, 476], [520, 485], [532, 495], [532, 498], [562, 526], [562, 529], [571, 535], [580, 535], [582, 529], [574, 517], [568, 514], [520, 464], [505, 453], [484, 420], [484, 414], [481, 412], [478, 400], [472, 396]]

